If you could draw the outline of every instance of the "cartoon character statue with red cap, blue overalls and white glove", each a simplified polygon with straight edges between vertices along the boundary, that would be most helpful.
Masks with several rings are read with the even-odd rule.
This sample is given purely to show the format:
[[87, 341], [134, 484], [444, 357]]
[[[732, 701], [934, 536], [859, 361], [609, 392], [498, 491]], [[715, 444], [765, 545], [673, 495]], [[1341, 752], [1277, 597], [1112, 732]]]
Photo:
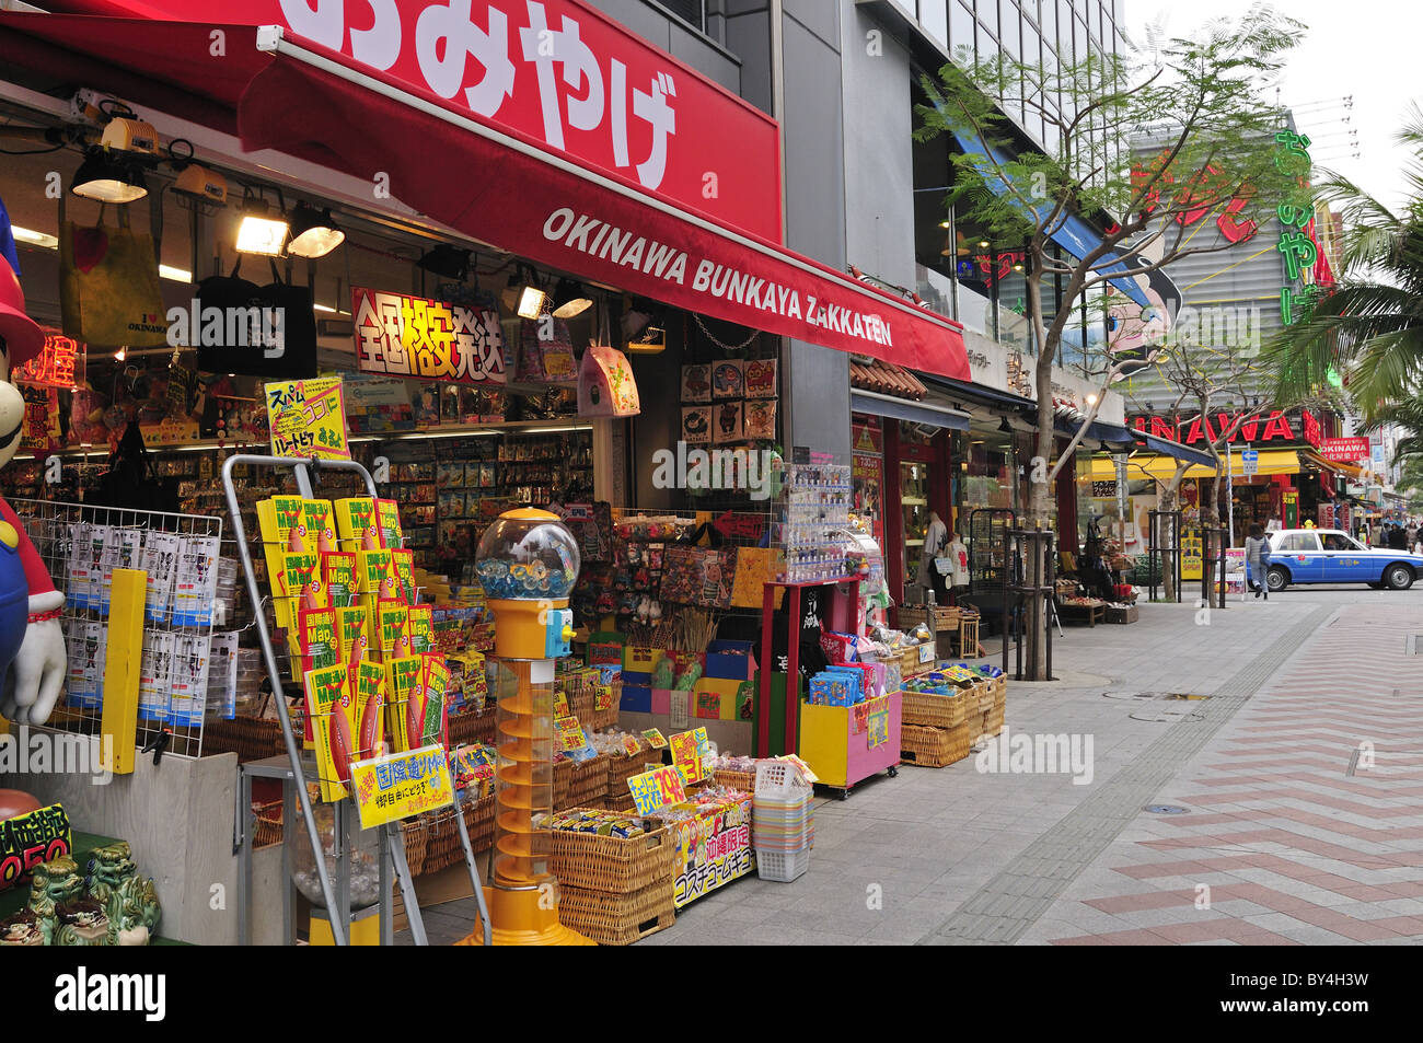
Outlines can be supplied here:
[[[44, 332], [24, 313], [20, 280], [0, 258], [0, 467], [14, 458], [24, 420], [24, 398], [10, 373], [43, 350]], [[64, 595], [54, 589], [18, 517], [0, 499], [0, 716], [18, 724], [48, 720], [65, 672], [63, 608]]]

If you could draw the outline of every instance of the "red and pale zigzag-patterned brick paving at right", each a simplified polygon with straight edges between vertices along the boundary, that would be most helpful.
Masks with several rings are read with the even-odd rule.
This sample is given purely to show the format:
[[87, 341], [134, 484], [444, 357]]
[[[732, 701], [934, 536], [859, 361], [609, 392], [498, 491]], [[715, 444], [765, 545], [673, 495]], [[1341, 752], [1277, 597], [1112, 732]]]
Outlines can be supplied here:
[[1423, 939], [1423, 609], [1349, 606], [1023, 936], [1056, 945]]

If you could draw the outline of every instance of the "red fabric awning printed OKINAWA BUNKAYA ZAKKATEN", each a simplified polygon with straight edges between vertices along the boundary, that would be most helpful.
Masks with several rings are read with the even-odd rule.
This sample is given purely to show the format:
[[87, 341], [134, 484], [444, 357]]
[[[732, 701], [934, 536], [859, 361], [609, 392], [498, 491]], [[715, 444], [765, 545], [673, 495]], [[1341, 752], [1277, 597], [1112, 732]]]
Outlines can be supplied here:
[[970, 378], [958, 323], [484, 125], [276, 27], [0, 14], [0, 63], [235, 131], [246, 149], [371, 178], [451, 228], [583, 279]]

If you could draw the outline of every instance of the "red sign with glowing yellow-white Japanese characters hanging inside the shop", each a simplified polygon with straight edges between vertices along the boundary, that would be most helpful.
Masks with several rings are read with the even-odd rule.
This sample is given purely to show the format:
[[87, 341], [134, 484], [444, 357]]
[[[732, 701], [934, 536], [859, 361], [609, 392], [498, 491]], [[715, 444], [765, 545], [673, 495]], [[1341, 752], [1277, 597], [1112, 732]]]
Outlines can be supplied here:
[[356, 286], [351, 314], [361, 373], [464, 384], [504, 383], [504, 333], [494, 309]]

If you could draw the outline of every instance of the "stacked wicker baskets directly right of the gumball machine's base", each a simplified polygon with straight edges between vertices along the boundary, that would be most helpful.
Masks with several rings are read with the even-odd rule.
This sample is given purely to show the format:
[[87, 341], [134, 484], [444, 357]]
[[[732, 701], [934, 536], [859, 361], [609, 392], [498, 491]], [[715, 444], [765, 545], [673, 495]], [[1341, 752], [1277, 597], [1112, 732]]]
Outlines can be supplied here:
[[676, 918], [673, 859], [666, 830], [598, 837], [554, 830], [548, 868], [558, 877], [558, 919], [599, 945], [632, 945]]

